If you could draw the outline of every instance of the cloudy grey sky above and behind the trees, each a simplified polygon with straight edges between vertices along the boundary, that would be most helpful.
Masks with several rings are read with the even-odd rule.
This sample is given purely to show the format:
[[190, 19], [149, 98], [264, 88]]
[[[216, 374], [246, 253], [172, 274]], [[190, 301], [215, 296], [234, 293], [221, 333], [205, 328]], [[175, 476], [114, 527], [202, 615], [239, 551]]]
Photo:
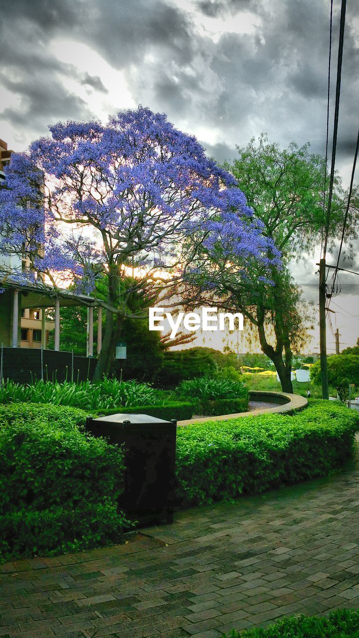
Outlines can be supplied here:
[[[247, 144], [261, 131], [283, 147], [292, 140], [310, 142], [312, 152], [324, 154], [329, 4], [4, 0], [0, 137], [23, 150], [56, 121], [105, 122], [109, 114], [141, 103], [196, 135], [218, 161], [233, 159], [236, 144]], [[334, 5], [333, 87], [339, 33], [339, 4]], [[358, 77], [359, 6], [348, 0], [337, 147], [345, 186], [358, 130]], [[293, 267], [314, 299], [318, 257], [319, 252], [306, 266]], [[351, 265], [359, 271], [358, 257]], [[342, 309], [335, 308], [333, 322], [346, 345], [359, 336], [356, 279], [342, 277], [335, 300]]]

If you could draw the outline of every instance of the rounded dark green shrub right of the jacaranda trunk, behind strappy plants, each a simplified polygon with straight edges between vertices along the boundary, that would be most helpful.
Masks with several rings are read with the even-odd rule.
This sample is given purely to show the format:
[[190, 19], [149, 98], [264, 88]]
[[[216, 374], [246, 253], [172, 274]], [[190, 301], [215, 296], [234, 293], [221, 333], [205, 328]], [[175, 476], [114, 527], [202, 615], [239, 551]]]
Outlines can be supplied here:
[[163, 388], [174, 388], [184, 379], [213, 376], [217, 369], [217, 363], [204, 348], [172, 350], [165, 352], [158, 385]]

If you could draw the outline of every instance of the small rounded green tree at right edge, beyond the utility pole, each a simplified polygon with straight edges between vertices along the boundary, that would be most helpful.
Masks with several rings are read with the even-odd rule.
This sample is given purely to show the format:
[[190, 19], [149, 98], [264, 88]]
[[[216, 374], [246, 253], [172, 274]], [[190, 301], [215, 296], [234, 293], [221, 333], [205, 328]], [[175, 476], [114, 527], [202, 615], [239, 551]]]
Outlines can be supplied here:
[[[318, 359], [310, 368], [310, 379], [320, 385], [321, 364]], [[340, 401], [345, 401], [349, 394], [349, 383], [359, 385], [359, 355], [331, 355], [328, 357], [328, 383], [335, 387]]]

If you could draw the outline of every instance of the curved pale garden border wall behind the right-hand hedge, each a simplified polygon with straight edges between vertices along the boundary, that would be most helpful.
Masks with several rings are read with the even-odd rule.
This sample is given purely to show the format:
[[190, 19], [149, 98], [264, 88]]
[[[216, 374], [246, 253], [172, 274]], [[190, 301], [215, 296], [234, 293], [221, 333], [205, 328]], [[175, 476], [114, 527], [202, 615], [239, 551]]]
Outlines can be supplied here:
[[[275, 408], [263, 408], [260, 410], [249, 410], [248, 412], [238, 412], [236, 414], [222, 414], [219, 417], [201, 417], [201, 419], [187, 419], [178, 421], [178, 426], [189, 426], [191, 423], [204, 423], [208, 421], [224, 421], [227, 419], [236, 419], [237, 417], [257, 417], [264, 413], [281, 413], [292, 414], [294, 410], [302, 410], [308, 405], [307, 399], [300, 394], [290, 394], [289, 392], [261, 392], [260, 390], [250, 390], [249, 397], [252, 401], [271, 401], [274, 403], [277, 399], [279, 404]], [[283, 403], [283, 400], [285, 403]]]

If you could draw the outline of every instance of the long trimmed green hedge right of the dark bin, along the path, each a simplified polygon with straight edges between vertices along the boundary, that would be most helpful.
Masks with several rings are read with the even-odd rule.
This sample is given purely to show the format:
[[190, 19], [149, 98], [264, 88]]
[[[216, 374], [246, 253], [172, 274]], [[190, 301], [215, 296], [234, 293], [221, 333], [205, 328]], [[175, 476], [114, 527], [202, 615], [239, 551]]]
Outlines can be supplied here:
[[293, 416], [264, 414], [179, 427], [178, 502], [211, 503], [328, 475], [351, 456], [358, 429], [358, 412], [316, 400]]

